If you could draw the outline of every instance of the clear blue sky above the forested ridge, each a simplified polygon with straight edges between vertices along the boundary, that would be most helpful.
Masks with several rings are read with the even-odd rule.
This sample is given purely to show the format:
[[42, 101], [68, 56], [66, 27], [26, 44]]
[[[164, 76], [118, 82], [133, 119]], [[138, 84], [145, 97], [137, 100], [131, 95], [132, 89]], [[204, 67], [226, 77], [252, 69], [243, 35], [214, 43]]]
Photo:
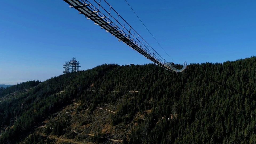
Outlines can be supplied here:
[[[113, 8], [167, 61], [124, 0]], [[176, 63], [225, 62], [256, 54], [256, 1], [129, 0]], [[46, 80], [76, 57], [81, 70], [104, 63], [151, 63], [62, 0], [2, 1], [0, 84]]]

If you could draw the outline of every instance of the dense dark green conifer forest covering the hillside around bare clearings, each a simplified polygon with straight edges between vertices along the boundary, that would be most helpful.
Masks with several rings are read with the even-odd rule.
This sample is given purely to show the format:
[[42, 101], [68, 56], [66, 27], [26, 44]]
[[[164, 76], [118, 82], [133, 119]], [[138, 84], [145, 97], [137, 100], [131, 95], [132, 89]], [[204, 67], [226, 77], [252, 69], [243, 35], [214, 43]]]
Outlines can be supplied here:
[[[54, 143], [47, 135], [73, 139], [75, 135], [67, 131], [69, 117], [52, 123], [42, 135], [34, 131], [43, 121], [54, 119], [54, 113], [78, 101], [77, 116], [81, 110], [94, 114], [95, 107], [118, 104], [116, 113], [110, 115], [111, 126], [131, 125], [140, 116], [130, 133], [122, 133], [129, 143], [256, 143], [255, 80], [256, 57], [190, 64], [182, 73], [154, 64], [105, 64], [63, 74], [38, 82], [15, 98], [1, 100], [0, 143], [24, 141], [29, 134], [33, 135], [25, 143]], [[14, 92], [14, 87], [1, 91], [0, 97]], [[95, 119], [88, 117], [87, 121]], [[81, 123], [81, 133], [86, 131], [87, 121]], [[108, 141], [94, 137], [93, 143]]]

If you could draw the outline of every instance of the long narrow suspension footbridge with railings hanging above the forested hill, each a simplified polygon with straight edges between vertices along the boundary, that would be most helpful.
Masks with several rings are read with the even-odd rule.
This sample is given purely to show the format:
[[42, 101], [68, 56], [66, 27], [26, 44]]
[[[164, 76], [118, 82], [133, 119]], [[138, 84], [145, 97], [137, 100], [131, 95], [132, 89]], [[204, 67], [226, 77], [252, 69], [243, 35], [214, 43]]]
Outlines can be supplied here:
[[122, 41], [159, 66], [172, 72], [182, 72], [186, 69], [186, 62], [184, 62], [181, 69], [177, 69], [172, 63], [162, 58], [106, 0], [90, 0], [90, 2], [88, 0], [64, 1], [70, 5], [69, 7], [78, 10], [79, 14], [83, 14], [87, 19], [94, 21], [95, 25], [99, 25], [106, 32], [111, 33], [118, 41]]

